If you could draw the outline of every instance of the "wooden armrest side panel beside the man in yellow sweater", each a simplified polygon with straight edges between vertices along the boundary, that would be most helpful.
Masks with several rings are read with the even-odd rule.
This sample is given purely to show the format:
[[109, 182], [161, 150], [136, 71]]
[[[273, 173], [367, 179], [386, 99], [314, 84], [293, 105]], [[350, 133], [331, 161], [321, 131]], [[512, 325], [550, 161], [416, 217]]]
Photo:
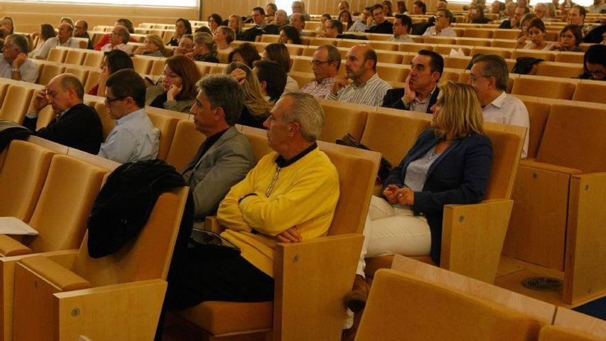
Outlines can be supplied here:
[[274, 335], [282, 340], [340, 338], [343, 299], [351, 290], [363, 241], [362, 234], [341, 234], [276, 245]]

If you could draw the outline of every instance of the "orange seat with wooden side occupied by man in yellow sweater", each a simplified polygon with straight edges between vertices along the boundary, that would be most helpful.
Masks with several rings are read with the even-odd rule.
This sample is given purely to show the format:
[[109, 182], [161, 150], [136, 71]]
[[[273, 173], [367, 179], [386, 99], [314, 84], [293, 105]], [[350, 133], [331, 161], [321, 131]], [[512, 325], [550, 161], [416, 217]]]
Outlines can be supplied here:
[[[258, 150], [269, 150], [264, 130], [242, 127], [242, 132], [253, 145], [264, 148]], [[203, 302], [178, 316], [217, 339], [264, 338], [264, 333], [271, 333], [273, 340], [338, 340], [345, 316], [342, 298], [351, 289], [362, 247], [360, 232], [379, 154], [321, 141], [318, 145], [339, 172], [335, 217], [328, 236], [276, 245], [273, 308], [271, 302]]]

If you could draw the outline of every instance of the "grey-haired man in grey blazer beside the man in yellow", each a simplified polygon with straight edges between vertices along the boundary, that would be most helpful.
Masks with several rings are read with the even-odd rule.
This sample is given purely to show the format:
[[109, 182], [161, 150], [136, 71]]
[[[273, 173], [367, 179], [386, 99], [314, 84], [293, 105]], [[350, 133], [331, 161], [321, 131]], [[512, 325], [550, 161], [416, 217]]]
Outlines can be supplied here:
[[197, 87], [191, 114], [206, 141], [185, 167], [183, 178], [194, 196], [194, 229], [204, 229], [205, 218], [217, 214], [225, 194], [255, 166], [255, 154], [246, 136], [234, 127], [244, 106], [238, 82], [212, 74]]

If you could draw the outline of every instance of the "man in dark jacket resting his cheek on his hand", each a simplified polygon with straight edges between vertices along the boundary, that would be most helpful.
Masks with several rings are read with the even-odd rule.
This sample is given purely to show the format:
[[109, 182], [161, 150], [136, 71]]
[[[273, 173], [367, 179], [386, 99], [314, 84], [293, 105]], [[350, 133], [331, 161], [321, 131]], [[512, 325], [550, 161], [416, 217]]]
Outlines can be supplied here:
[[388, 90], [384, 107], [430, 114], [440, 88], [437, 86], [444, 69], [444, 59], [430, 50], [420, 50], [410, 62], [410, 73], [404, 88]]

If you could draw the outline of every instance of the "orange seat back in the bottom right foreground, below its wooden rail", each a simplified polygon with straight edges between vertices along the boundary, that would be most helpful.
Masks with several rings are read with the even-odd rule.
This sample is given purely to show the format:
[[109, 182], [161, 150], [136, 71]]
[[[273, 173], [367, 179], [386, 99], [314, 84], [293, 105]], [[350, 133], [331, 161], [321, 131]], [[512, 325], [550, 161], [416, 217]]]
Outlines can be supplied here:
[[355, 340], [533, 341], [534, 318], [392, 269], [377, 272]]

